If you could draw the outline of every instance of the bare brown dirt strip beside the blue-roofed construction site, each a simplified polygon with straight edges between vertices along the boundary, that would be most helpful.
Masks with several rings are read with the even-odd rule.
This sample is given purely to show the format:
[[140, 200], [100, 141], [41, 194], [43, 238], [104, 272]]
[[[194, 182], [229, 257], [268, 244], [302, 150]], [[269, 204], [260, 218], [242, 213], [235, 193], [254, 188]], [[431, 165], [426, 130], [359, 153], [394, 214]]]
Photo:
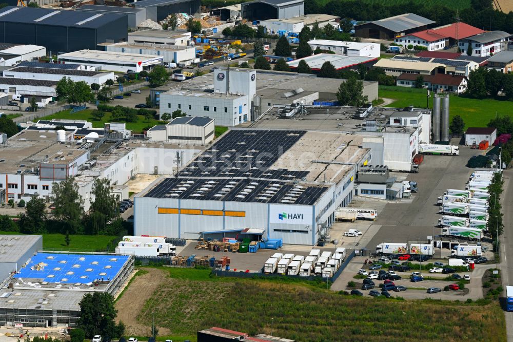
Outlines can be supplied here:
[[[126, 335], [149, 336], [151, 326], [139, 324], [137, 315], [144, 307], [153, 292], [166, 281], [166, 273], [157, 269], [146, 269], [148, 273], [138, 276], [128, 286], [121, 298], [116, 301], [116, 322], [122, 321], [126, 326]], [[167, 329], [159, 327], [161, 333]]]

